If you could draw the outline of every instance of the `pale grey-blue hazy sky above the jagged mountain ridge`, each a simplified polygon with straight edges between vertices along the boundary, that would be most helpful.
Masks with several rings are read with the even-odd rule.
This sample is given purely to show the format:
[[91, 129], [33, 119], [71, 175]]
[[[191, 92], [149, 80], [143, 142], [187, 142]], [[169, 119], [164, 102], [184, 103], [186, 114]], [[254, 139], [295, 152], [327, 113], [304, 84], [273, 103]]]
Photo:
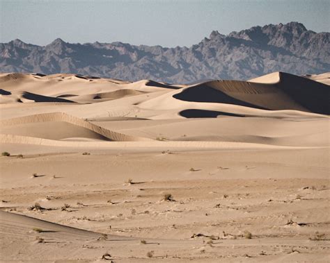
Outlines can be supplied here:
[[0, 0], [0, 9], [0, 42], [19, 38], [39, 45], [61, 37], [74, 43], [191, 46], [213, 30], [228, 34], [296, 21], [329, 32], [330, 25], [330, 0]]

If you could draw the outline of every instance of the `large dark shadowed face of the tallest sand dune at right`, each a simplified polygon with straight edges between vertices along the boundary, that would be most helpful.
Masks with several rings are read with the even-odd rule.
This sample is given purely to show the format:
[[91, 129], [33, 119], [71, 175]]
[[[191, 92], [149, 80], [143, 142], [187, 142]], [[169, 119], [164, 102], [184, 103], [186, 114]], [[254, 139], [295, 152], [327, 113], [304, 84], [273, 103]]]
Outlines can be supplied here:
[[[272, 81], [274, 80], [276, 78], [272, 78]], [[329, 114], [329, 91], [329, 87], [322, 83], [279, 72], [278, 81], [275, 83], [213, 80], [184, 88], [173, 97], [182, 101]]]

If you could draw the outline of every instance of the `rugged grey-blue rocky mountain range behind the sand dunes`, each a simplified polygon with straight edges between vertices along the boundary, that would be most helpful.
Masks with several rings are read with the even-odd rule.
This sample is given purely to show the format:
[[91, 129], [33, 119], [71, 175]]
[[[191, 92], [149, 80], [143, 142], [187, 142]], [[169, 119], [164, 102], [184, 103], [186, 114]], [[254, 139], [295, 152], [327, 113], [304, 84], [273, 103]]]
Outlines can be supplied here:
[[72, 73], [125, 80], [190, 83], [203, 79], [246, 80], [273, 71], [330, 71], [330, 33], [298, 22], [255, 26], [221, 35], [212, 31], [191, 47], [134, 46], [122, 42], [47, 46], [13, 40], [0, 44], [0, 71]]

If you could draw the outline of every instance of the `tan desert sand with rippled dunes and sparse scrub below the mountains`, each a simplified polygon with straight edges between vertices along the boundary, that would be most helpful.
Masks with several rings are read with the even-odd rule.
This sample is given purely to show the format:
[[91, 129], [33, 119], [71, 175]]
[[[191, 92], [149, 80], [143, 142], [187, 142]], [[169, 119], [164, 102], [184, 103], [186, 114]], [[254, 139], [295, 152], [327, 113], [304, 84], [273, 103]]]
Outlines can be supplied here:
[[1, 262], [329, 262], [328, 78], [0, 74]]

